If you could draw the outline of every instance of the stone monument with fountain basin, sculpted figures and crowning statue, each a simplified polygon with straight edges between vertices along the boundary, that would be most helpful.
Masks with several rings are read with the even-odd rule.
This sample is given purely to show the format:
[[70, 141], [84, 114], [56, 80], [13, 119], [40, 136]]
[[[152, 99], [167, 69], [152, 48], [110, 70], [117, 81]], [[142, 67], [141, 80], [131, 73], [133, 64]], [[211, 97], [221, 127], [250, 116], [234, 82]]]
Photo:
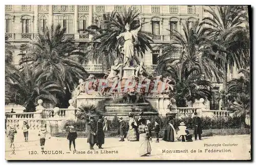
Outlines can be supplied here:
[[79, 80], [73, 98], [76, 108], [81, 104], [103, 104], [103, 116], [112, 119], [118, 115], [124, 120], [129, 119], [128, 114], [131, 112], [143, 112], [145, 116], [171, 113], [168, 105], [168, 94], [173, 91], [171, 80], [161, 75], [147, 76], [142, 60], [139, 65], [135, 64], [135, 47], [139, 44], [138, 33], [141, 28], [141, 17], [135, 30], [131, 30], [130, 24], [126, 23], [125, 32], [116, 37], [118, 40], [124, 39], [123, 45], [118, 46], [123, 54], [123, 62], [117, 57], [103, 80], [93, 78], [92, 81], [93, 75], [86, 81]]

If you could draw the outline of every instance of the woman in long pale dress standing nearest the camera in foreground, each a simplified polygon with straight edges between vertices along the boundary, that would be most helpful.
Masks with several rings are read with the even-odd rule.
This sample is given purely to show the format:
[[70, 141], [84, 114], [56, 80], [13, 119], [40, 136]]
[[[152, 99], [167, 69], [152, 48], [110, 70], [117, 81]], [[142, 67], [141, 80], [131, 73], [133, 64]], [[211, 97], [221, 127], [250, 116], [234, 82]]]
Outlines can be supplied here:
[[148, 140], [148, 128], [146, 126], [146, 120], [141, 119], [140, 120], [140, 126], [139, 126], [139, 133], [140, 133], [140, 149], [139, 154], [140, 156], [148, 156], [148, 154], [151, 154], [151, 145], [150, 141]]

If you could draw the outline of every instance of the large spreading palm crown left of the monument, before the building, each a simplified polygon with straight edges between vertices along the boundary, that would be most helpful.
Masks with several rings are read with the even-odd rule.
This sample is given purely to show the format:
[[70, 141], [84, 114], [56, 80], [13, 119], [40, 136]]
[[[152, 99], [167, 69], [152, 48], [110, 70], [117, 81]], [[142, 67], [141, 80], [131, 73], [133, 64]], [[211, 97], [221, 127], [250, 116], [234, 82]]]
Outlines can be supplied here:
[[32, 70], [42, 72], [44, 80], [58, 82], [67, 92], [74, 90], [80, 78], [87, 76], [81, 61], [86, 54], [79, 51], [72, 38], [65, 37], [66, 28], [51, 26], [44, 33], [37, 36], [36, 42], [24, 45], [20, 64], [28, 63]]

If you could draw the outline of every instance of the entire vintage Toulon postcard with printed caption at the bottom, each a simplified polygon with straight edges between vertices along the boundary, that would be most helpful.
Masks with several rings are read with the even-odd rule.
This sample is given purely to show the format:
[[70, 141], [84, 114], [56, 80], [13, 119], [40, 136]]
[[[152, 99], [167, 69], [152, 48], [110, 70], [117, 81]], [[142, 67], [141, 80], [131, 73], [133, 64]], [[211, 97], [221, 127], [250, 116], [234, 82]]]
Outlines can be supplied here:
[[6, 160], [250, 160], [250, 10], [5, 5]]

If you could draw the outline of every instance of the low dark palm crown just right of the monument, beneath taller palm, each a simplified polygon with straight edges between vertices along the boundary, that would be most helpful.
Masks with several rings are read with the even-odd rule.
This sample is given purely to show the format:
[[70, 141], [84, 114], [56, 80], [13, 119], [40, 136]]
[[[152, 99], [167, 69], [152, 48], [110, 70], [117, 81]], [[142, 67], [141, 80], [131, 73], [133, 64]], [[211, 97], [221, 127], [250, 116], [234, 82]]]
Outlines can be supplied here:
[[195, 99], [210, 99], [211, 83], [205, 80], [203, 75], [197, 72], [197, 67], [187, 68], [189, 61], [180, 61], [169, 64], [165, 75], [171, 76], [175, 82], [174, 97], [177, 105], [185, 107]]

